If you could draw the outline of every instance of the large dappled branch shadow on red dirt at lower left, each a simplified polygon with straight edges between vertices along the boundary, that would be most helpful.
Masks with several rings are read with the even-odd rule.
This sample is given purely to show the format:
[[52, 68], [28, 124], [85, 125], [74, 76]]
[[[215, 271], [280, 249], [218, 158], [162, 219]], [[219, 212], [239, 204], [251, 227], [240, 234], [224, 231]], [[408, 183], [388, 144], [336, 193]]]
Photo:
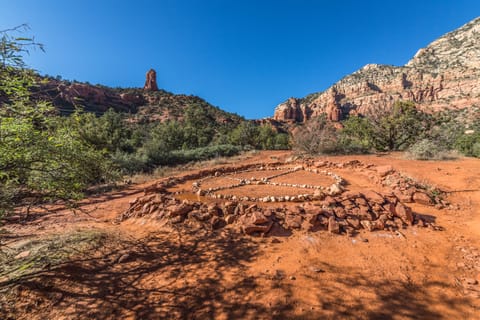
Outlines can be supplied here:
[[0, 315], [8, 319], [30, 310], [75, 319], [267, 317], [266, 308], [247, 299], [257, 284], [245, 263], [257, 251], [254, 242], [234, 233], [115, 240], [93, 257], [22, 278], [16, 290], [29, 298], [9, 304], [10, 310], [4, 304], [3, 311], [0, 302]]

